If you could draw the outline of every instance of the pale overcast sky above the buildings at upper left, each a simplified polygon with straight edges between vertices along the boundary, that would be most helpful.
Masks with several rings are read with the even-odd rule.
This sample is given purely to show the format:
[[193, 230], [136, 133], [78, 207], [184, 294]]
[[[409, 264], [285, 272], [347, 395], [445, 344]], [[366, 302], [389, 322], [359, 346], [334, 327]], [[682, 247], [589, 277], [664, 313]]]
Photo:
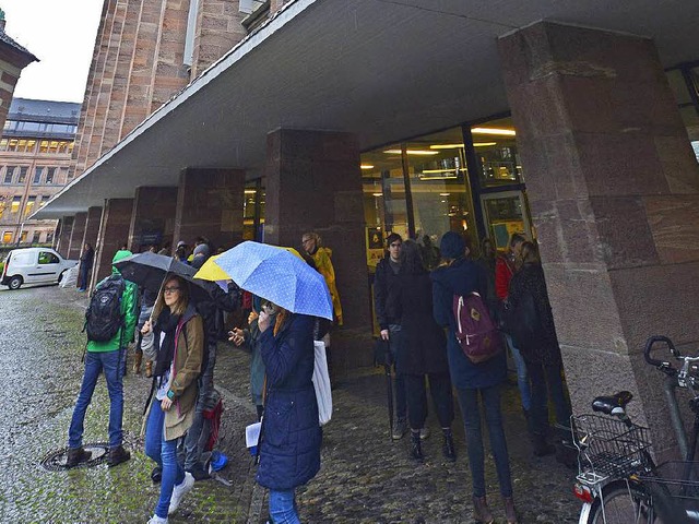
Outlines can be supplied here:
[[5, 33], [39, 62], [22, 70], [14, 96], [83, 102], [103, 0], [0, 0]]

